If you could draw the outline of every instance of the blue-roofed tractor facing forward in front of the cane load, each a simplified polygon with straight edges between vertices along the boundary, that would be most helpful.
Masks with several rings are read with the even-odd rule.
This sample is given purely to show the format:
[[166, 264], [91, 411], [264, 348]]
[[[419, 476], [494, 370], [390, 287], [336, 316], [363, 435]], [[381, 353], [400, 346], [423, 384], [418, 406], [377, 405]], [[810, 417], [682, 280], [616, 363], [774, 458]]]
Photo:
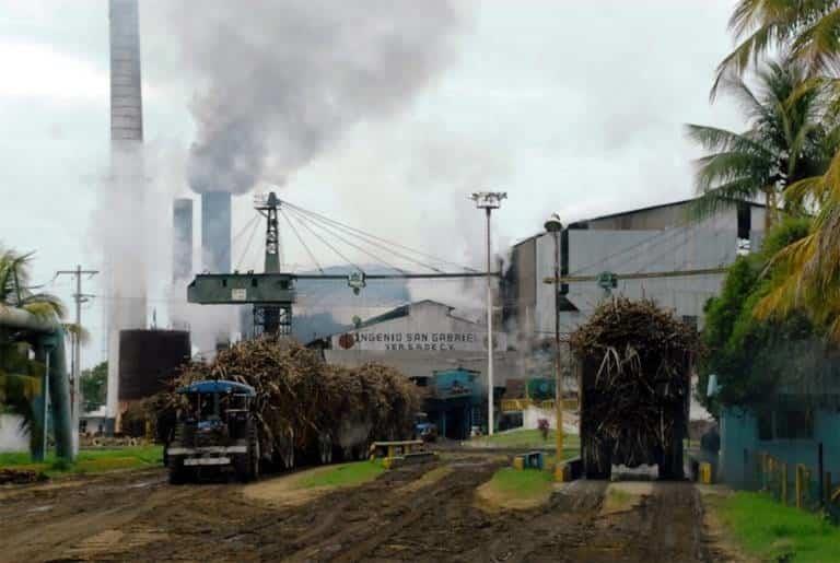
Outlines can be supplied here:
[[243, 482], [259, 476], [259, 436], [254, 388], [223, 379], [177, 390], [185, 398], [164, 459], [170, 482], [195, 481], [207, 472], [233, 472]]

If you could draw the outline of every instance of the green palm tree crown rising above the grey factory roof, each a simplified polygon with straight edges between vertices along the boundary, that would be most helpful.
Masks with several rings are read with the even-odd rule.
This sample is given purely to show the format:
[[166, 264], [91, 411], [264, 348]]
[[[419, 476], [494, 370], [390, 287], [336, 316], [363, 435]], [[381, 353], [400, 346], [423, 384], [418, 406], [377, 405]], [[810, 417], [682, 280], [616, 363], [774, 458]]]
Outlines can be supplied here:
[[[768, 206], [766, 230], [777, 220], [779, 197], [803, 178], [821, 174], [840, 146], [840, 128], [827, 110], [822, 84], [807, 79], [802, 64], [770, 62], [750, 87], [731, 74], [720, 86], [742, 105], [748, 129], [742, 133], [688, 125], [688, 136], [707, 156], [697, 161], [699, 215], [737, 200], [762, 197]], [[795, 202], [784, 200], [789, 211]]]

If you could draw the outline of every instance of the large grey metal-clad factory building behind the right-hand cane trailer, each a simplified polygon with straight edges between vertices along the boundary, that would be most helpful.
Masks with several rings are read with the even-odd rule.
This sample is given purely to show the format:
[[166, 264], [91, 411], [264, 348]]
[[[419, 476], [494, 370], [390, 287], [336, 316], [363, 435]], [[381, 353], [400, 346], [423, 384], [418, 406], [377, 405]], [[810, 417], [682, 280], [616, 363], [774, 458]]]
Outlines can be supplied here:
[[[584, 279], [560, 284], [557, 295], [555, 285], [546, 283], [555, 273], [555, 236], [544, 232], [514, 245], [502, 284], [503, 324], [522, 354], [526, 376], [553, 374], [546, 359], [552, 355], [555, 310], [560, 332], [567, 335], [610, 295], [653, 300], [702, 328], [703, 306], [720, 292], [724, 268], [761, 244], [765, 207], [737, 202], [695, 221], [693, 201], [564, 225], [557, 234], [560, 275]], [[568, 353], [561, 347], [561, 356]], [[569, 362], [564, 359], [562, 365]], [[564, 388], [574, 388], [571, 370], [564, 375]]]

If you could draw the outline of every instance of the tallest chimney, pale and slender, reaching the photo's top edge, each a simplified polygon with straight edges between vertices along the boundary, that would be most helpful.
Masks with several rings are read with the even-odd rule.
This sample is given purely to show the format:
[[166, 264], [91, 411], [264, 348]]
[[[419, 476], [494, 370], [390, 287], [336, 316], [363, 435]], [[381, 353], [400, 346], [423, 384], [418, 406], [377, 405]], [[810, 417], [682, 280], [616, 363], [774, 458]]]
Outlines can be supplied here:
[[142, 143], [143, 102], [137, 0], [110, 0], [112, 174], [104, 206], [118, 225], [103, 236], [106, 262], [108, 400], [117, 414], [119, 332], [145, 328], [145, 260], [142, 214], [145, 188]]

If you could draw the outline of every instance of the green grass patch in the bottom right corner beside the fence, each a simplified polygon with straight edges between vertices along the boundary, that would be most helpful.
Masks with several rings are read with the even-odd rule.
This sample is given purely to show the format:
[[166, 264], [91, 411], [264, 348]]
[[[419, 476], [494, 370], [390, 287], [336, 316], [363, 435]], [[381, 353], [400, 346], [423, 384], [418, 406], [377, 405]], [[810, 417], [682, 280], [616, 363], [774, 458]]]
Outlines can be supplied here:
[[738, 492], [711, 502], [746, 552], [770, 561], [840, 561], [840, 529], [768, 495]]

